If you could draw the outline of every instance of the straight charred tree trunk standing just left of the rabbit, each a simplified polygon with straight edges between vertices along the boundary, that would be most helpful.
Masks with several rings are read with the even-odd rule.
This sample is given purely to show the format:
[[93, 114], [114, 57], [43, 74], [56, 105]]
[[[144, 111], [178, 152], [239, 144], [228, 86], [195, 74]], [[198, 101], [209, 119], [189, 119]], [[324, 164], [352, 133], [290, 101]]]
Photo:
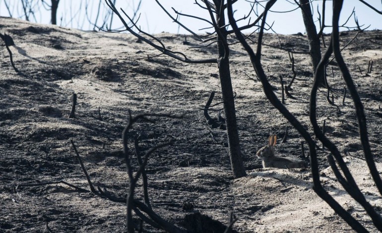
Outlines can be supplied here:
[[[215, 5], [220, 6], [224, 3], [223, 0], [215, 0]], [[216, 4], [217, 3], [217, 4]], [[217, 7], [220, 8], [220, 7]], [[218, 68], [220, 76], [220, 86], [222, 90], [222, 98], [224, 102], [224, 114], [226, 117], [226, 126], [227, 126], [227, 136], [228, 136], [228, 148], [229, 155], [231, 160], [231, 168], [235, 178], [246, 176], [246, 169], [244, 168], [241, 149], [240, 149], [240, 140], [239, 140], [239, 131], [236, 119], [235, 111], [235, 102], [234, 94], [232, 89], [231, 82], [231, 72], [230, 72], [230, 63], [229, 63], [229, 48], [226, 43], [227, 40], [227, 31], [224, 27], [225, 17], [224, 13], [216, 15], [216, 21], [220, 28], [220, 36], [218, 36]], [[222, 38], [221, 38], [222, 37]]]

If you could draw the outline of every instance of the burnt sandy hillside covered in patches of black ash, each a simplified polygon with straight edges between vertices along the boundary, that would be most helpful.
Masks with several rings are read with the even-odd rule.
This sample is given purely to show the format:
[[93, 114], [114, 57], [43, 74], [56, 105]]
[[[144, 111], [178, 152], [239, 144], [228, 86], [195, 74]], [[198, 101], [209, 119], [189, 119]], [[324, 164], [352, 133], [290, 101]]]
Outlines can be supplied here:
[[[297, 158], [302, 138], [265, 98], [245, 51], [233, 45], [231, 71], [240, 140], [248, 176], [233, 179], [226, 134], [206, 124], [202, 105], [211, 91], [212, 104], [220, 99], [216, 64], [185, 64], [159, 56], [151, 47], [127, 34], [84, 32], [57, 26], [1, 18], [0, 32], [11, 35], [16, 74], [1, 42], [0, 69], [0, 229], [5, 232], [123, 232], [126, 207], [64, 184], [13, 187], [23, 183], [64, 180], [87, 187], [74, 157], [73, 140], [92, 181], [123, 196], [127, 190], [124, 162], [108, 157], [121, 149], [121, 133], [128, 110], [139, 113], [182, 114], [183, 119], [151, 117], [139, 121], [131, 138], [141, 135], [147, 150], [173, 138], [176, 143], [153, 154], [147, 166], [153, 209], [162, 217], [184, 224], [187, 214], [202, 214], [229, 224], [234, 211], [239, 232], [349, 232], [342, 221], [312, 189], [309, 170], [262, 169], [255, 152], [267, 143], [269, 134], [288, 140], [276, 145], [276, 154]], [[345, 45], [355, 32], [341, 35]], [[190, 58], [215, 58], [216, 48], [198, 46], [191, 36], [156, 35], [168, 48]], [[187, 37], [189, 45], [183, 43]], [[255, 37], [255, 35], [254, 35]], [[326, 41], [329, 36], [325, 36]], [[307, 51], [306, 38], [280, 35], [283, 48]], [[234, 42], [233, 38], [230, 38]], [[374, 43], [376, 42], [376, 43]], [[273, 34], [264, 43], [279, 46]], [[382, 171], [382, 32], [358, 35], [343, 55], [357, 84], [368, 117], [369, 137], [379, 171]], [[253, 45], [255, 46], [255, 45]], [[286, 107], [313, 133], [309, 123], [309, 93], [312, 86], [310, 59], [296, 54], [297, 79]], [[368, 62], [373, 70], [365, 75]], [[288, 53], [263, 47], [262, 62], [275, 93], [281, 97], [279, 76], [292, 77]], [[358, 136], [355, 109], [349, 94], [342, 105], [344, 82], [339, 68], [328, 73], [334, 102], [326, 101], [326, 89], [318, 92], [318, 122], [326, 120], [326, 134], [343, 153], [350, 171], [366, 198], [381, 213], [382, 199], [368, 173]], [[362, 74], [359, 69], [363, 70]], [[68, 118], [72, 94], [77, 94], [76, 118]], [[215, 108], [219, 108], [218, 106]], [[102, 119], [99, 118], [99, 111]], [[215, 113], [211, 113], [215, 115]], [[318, 142], [318, 145], [320, 143]], [[336, 182], [319, 150], [322, 182], [328, 192], [369, 231], [377, 232], [365, 211]], [[135, 158], [133, 158], [135, 161]], [[136, 162], [134, 162], [136, 168]], [[135, 169], [136, 170], [136, 169]], [[142, 185], [136, 191], [143, 199]], [[192, 203], [192, 208], [185, 203]], [[155, 231], [144, 225], [148, 230]]]

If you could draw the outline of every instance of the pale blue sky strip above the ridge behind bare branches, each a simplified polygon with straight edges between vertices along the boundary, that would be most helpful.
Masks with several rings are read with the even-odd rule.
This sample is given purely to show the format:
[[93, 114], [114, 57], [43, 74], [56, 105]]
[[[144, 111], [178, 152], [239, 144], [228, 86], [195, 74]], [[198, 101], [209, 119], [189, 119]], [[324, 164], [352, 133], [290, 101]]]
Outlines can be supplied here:
[[[50, 0], [44, 1], [50, 2]], [[366, 1], [377, 9], [382, 10], [382, 0]], [[32, 9], [34, 11], [34, 15], [29, 15], [29, 20], [32, 22], [49, 24], [51, 20], [49, 6], [43, 4], [42, 0], [29, 0], [29, 2], [31, 2]], [[171, 15], [174, 16], [174, 18], [177, 17], [177, 14], [174, 12], [172, 7], [184, 14], [190, 14], [204, 19], [210, 19], [208, 12], [195, 4], [195, 0], [159, 0], [159, 2], [164, 6], [164, 8], [168, 10], [168, 12], [170, 12]], [[198, 0], [198, 2], [201, 3], [200, 0]], [[9, 16], [9, 11], [7, 10], [5, 3], [9, 6], [9, 11], [12, 14], [12, 17], [25, 19], [21, 0], [0, 0], [0, 16]], [[97, 20], [97, 25], [101, 26], [105, 18], [107, 18], [107, 24], [110, 25], [111, 18], [110, 14], [108, 14], [110, 10], [105, 4], [104, 0], [60, 0], [57, 14], [58, 24], [64, 27], [78, 28], [82, 30], [93, 30], [99, 4], [101, 5], [101, 10]], [[116, 0], [117, 8], [123, 8], [129, 16], [133, 15], [133, 9], [137, 7], [137, 4], [138, 0]], [[325, 10], [325, 25], [331, 25], [331, 5], [332, 1], [327, 0]], [[318, 27], [319, 23], [317, 20], [317, 7], [319, 12], [322, 13], [322, 0], [313, 1], [313, 17], [316, 20], [316, 25]], [[273, 31], [279, 34], [294, 34], [298, 32], [304, 33], [305, 27], [302, 20], [301, 10], [296, 9], [291, 11], [295, 8], [297, 8], [297, 6], [294, 3], [294, 0], [278, 0], [271, 8], [271, 10], [275, 12], [268, 13], [266, 22], [269, 25], [273, 24]], [[344, 6], [341, 11], [340, 25], [343, 24], [351, 15], [353, 8], [360, 25], [364, 25], [363, 27], [370, 25], [368, 30], [382, 29], [382, 15], [370, 9], [359, 0], [344, 1]], [[237, 10], [235, 12], [235, 18], [242, 18], [250, 13], [251, 3], [248, 0], [238, 0], [237, 3], [234, 4], [234, 9]], [[263, 8], [261, 6], [258, 6], [257, 8], [254, 7], [254, 11], [261, 13]], [[285, 11], [291, 12], [282, 13]], [[137, 25], [139, 25], [141, 30], [145, 32], [152, 34], [161, 32], [190, 34], [182, 27], [179, 27], [178, 24], [174, 23], [173, 20], [160, 8], [155, 0], [142, 0], [138, 13], [140, 13], [140, 17]], [[251, 16], [247, 18], [247, 21], [243, 20], [240, 21], [240, 23], [242, 25], [247, 24], [250, 18], [253, 22], [256, 18], [254, 12], [251, 12]], [[200, 30], [210, 26], [204, 21], [187, 16], [180, 16], [178, 19], [181, 21], [181, 23], [186, 25], [189, 29], [197, 34], [212, 31], [211, 29]], [[125, 17], [125, 20], [128, 21], [127, 17]], [[354, 15], [349, 19], [347, 25], [351, 27], [355, 26]], [[114, 15], [112, 29], [122, 29], [121, 27], [121, 20], [116, 15]], [[340, 30], [348, 29], [342, 28]], [[329, 33], [330, 31], [330, 28], [326, 28], [324, 30], [325, 33]], [[252, 31], [246, 32], [250, 33]]]

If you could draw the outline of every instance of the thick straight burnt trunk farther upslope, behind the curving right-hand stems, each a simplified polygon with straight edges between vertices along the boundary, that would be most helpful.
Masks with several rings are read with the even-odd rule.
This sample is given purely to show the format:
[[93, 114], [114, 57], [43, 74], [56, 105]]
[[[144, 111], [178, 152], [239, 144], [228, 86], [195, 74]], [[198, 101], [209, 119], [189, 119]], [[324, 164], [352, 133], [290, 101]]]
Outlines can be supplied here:
[[311, 60], [312, 60], [313, 68], [314, 68], [313, 71], [315, 72], [317, 69], [318, 63], [321, 60], [320, 42], [319, 42], [317, 30], [316, 30], [316, 25], [313, 21], [310, 0], [300, 0], [300, 5], [301, 5], [301, 11], [303, 14], [305, 30], [307, 31], [307, 38], [309, 41], [309, 52], [311, 55]]

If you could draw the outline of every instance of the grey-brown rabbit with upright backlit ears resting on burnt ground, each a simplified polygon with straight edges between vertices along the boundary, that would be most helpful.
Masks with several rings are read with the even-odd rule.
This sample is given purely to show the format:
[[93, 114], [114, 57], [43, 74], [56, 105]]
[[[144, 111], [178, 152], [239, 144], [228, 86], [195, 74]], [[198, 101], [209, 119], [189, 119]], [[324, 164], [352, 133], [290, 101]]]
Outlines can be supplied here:
[[263, 146], [257, 151], [256, 155], [262, 159], [263, 168], [306, 168], [304, 161], [292, 158], [281, 158], [274, 155], [274, 146], [276, 145], [277, 135], [270, 135], [267, 146]]

